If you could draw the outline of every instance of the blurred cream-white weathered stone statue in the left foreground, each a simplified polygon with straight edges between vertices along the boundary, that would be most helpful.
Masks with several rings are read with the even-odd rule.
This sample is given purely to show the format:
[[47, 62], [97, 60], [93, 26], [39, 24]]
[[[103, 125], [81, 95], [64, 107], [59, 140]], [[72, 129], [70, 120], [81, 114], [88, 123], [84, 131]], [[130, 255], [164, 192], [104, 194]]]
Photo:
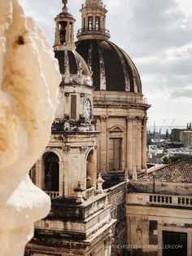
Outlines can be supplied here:
[[28, 170], [50, 139], [60, 83], [46, 38], [17, 0], [0, 0], [0, 255], [22, 256], [50, 198]]

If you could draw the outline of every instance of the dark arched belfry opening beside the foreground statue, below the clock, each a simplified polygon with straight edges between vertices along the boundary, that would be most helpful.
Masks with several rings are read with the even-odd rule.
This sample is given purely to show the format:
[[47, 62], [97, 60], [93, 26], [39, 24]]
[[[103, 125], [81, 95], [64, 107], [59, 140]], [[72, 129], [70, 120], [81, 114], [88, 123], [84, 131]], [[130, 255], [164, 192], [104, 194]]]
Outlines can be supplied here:
[[59, 192], [59, 157], [54, 152], [44, 155], [45, 190]]

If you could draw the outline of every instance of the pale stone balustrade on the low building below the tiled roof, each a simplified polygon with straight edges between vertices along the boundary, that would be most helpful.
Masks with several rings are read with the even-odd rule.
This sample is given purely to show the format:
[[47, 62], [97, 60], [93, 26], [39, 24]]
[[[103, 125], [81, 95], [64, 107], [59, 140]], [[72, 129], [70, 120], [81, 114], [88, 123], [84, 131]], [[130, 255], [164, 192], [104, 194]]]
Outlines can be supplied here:
[[191, 196], [167, 196], [167, 195], [148, 195], [148, 204], [153, 205], [176, 205], [192, 207]]

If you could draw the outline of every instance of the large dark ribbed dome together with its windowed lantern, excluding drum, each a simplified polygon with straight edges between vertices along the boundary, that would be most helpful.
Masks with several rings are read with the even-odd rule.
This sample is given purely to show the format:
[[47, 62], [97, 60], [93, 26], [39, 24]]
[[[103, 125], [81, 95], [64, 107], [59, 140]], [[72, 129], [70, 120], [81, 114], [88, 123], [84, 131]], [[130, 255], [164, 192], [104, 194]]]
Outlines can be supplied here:
[[133, 60], [110, 42], [106, 29], [106, 6], [101, 0], [86, 0], [81, 8], [81, 29], [76, 51], [93, 71], [95, 90], [142, 94], [142, 82]]

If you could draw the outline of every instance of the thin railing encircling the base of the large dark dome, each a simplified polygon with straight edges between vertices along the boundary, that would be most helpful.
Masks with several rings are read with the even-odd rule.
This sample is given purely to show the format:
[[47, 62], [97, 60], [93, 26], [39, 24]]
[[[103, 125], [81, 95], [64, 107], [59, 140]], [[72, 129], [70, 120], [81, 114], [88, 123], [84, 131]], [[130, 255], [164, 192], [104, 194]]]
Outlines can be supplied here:
[[129, 95], [94, 95], [94, 101], [125, 102], [131, 104], [147, 104], [147, 99]]

